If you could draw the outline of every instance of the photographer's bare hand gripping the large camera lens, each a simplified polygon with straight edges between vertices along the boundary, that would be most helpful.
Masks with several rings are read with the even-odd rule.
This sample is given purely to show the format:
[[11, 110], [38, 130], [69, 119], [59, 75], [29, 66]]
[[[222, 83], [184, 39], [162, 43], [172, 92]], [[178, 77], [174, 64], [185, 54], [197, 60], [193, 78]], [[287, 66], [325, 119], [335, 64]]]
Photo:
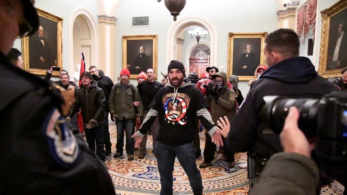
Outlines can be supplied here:
[[310, 146], [305, 135], [299, 129], [298, 120], [299, 111], [296, 107], [290, 107], [285, 126], [280, 134], [281, 145], [285, 152], [294, 152], [310, 157], [313, 146]]

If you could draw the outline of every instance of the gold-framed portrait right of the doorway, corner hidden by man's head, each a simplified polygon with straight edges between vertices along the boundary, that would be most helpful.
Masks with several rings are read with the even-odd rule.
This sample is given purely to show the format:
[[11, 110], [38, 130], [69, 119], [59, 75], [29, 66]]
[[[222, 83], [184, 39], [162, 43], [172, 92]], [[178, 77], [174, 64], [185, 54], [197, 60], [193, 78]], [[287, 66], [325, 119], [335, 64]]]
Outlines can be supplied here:
[[265, 64], [263, 53], [263, 33], [229, 33], [228, 75], [237, 75], [241, 81], [254, 78], [254, 71], [259, 64]]

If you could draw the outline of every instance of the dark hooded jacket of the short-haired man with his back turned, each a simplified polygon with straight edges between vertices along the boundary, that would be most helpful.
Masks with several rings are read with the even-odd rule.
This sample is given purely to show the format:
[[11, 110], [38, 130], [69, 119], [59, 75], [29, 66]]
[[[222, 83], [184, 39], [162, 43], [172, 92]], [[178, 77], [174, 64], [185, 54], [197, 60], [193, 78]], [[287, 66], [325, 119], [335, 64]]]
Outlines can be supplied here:
[[263, 97], [322, 98], [336, 90], [337, 87], [317, 75], [306, 57], [291, 57], [274, 64], [256, 81], [231, 121], [227, 146], [234, 152], [245, 152], [254, 147], [268, 159], [283, 149], [278, 135], [262, 133], [264, 124], [259, 114], [265, 103]]

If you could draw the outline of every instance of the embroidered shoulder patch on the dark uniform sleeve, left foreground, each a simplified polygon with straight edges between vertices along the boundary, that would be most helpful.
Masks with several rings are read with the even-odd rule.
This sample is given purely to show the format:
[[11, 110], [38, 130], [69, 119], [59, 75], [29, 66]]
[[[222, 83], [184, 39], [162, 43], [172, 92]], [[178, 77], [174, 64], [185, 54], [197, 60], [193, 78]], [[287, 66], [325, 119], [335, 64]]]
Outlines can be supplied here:
[[56, 107], [46, 117], [42, 131], [55, 161], [63, 167], [74, 166], [79, 154], [76, 137]]

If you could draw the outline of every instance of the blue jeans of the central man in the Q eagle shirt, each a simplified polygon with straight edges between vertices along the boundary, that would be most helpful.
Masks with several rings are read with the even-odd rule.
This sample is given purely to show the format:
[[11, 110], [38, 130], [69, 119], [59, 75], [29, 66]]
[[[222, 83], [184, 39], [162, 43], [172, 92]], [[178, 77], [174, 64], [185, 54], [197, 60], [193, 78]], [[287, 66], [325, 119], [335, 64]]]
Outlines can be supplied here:
[[195, 164], [196, 150], [194, 144], [187, 143], [173, 146], [157, 141], [155, 147], [160, 183], [162, 185], [160, 194], [173, 194], [173, 166], [174, 159], [177, 156], [179, 163], [188, 176], [194, 195], [202, 195], [202, 180], [200, 171]]

